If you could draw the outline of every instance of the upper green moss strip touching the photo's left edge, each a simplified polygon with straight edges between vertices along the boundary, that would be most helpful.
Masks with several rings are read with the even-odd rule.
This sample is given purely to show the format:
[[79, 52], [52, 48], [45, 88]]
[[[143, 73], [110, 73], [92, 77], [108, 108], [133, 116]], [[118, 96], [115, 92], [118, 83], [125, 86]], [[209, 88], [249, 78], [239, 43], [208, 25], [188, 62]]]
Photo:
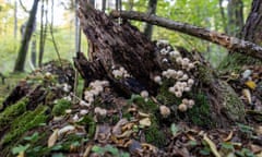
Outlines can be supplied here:
[[26, 111], [27, 98], [23, 98], [14, 105], [5, 108], [3, 112], [0, 113], [0, 132], [4, 130], [13, 119], [17, 118], [20, 114]]

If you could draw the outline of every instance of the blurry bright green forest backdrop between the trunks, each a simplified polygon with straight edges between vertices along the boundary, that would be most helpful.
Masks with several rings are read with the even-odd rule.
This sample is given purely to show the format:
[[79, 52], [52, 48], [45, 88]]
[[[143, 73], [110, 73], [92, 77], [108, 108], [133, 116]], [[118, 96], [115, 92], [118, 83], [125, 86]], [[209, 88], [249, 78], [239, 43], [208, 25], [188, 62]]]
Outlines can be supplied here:
[[[41, 51], [41, 49], [45, 49], [43, 62], [58, 59], [56, 51], [58, 51], [62, 58], [72, 59], [76, 51], [75, 35], [78, 35], [75, 32], [74, 3], [73, 0], [56, 2], [39, 0], [36, 24], [34, 25], [33, 36], [28, 46], [28, 55], [26, 56], [26, 71], [32, 70], [32, 64], [35, 64], [34, 67], [39, 65], [39, 51]], [[3, 74], [12, 72], [14, 69], [14, 61], [17, 58], [17, 51], [22, 40], [21, 29], [28, 20], [33, 0], [1, 0], [0, 2], [0, 68]], [[103, 10], [102, 1], [96, 1], [95, 5]], [[109, 12], [116, 9], [117, 1], [107, 1], [106, 5], [104, 10]], [[206, 27], [216, 32], [227, 33], [231, 36], [239, 36], [250, 8], [251, 0], [160, 0], [157, 1], [156, 15]], [[151, 10], [148, 10], [148, 1], [146, 0], [122, 1], [121, 9], [127, 11], [151, 12]], [[132, 22], [132, 24], [138, 26], [142, 32], [146, 27], [146, 24], [142, 22], [135, 21]], [[50, 25], [52, 25], [52, 27], [50, 27]], [[51, 36], [51, 33], [53, 36]], [[45, 41], [43, 41], [43, 38], [45, 38]], [[196, 49], [203, 52], [204, 57], [214, 67], [217, 67], [227, 55], [226, 49], [222, 47], [157, 26], [154, 26], [152, 39], [166, 39], [176, 46]], [[57, 50], [53, 46], [53, 40], [56, 41]], [[86, 52], [87, 43], [84, 36], [82, 36], [81, 43], [81, 50]], [[36, 55], [32, 53], [32, 51], [36, 51]], [[34, 58], [36, 58], [35, 61]]]

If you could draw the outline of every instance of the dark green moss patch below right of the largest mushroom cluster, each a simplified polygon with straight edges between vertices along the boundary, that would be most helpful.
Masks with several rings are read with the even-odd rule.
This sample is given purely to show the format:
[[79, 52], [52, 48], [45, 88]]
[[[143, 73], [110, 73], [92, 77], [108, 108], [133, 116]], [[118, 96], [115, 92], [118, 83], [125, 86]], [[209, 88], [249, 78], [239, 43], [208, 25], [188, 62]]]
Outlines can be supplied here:
[[211, 110], [207, 97], [200, 93], [194, 96], [195, 105], [187, 111], [189, 120], [199, 126], [211, 126]]

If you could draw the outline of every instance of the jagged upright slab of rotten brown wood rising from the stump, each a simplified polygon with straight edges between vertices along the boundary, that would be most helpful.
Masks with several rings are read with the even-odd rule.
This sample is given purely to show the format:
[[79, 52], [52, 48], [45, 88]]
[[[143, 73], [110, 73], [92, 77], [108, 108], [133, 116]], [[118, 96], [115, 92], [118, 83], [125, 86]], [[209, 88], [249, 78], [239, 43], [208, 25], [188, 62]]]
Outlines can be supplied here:
[[154, 44], [129, 23], [110, 21], [85, 0], [80, 1], [79, 16], [93, 46], [92, 59], [99, 60], [107, 75], [111, 75], [112, 67], [120, 64], [154, 94], [158, 85], [152, 81], [152, 73], [160, 69], [154, 62]]

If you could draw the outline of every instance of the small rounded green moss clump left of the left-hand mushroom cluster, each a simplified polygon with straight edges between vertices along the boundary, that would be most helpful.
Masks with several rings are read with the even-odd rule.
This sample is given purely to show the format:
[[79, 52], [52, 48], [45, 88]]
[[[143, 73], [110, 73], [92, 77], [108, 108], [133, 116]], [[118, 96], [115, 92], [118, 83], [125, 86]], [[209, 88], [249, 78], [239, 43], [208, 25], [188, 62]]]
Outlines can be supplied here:
[[57, 100], [56, 105], [52, 108], [52, 114], [62, 116], [66, 113], [66, 110], [70, 108], [71, 108], [71, 101], [66, 99], [59, 99]]

